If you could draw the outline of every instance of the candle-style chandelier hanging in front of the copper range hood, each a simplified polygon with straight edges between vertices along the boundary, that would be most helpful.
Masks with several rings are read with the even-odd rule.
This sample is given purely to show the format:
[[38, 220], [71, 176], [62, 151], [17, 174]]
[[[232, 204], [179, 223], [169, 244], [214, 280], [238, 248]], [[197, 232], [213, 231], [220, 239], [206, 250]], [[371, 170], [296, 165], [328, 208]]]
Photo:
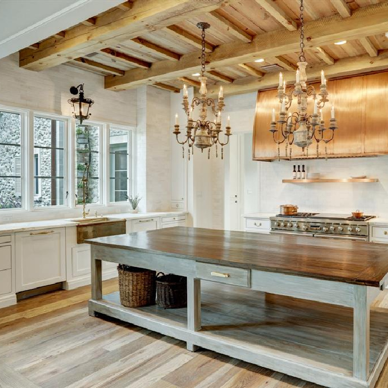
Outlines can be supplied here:
[[[303, 50], [305, 47], [303, 10], [303, 0], [300, 0], [300, 54], [299, 62], [297, 63], [296, 82], [294, 87], [290, 88], [287, 93], [286, 82], [283, 80], [282, 73], [279, 74], [277, 97], [279, 98], [280, 110], [278, 120], [275, 117], [275, 109], [272, 110], [270, 132], [272, 132], [274, 142], [278, 145], [279, 160], [280, 144], [285, 143], [285, 156], [291, 160], [291, 146], [293, 144], [302, 148], [303, 155], [309, 156], [309, 146], [313, 143], [313, 140], [317, 143], [317, 158], [319, 157], [319, 144], [321, 142], [325, 144], [325, 155], [327, 157], [327, 144], [333, 140], [334, 132], [337, 129], [333, 104], [331, 105], [330, 124], [328, 128], [326, 128], [323, 119], [322, 109], [325, 103], [329, 101], [326, 89], [327, 82], [323, 70], [321, 71], [320, 92], [318, 93], [320, 98], [317, 97], [314, 86], [306, 83], [307, 62]], [[296, 112], [292, 112], [290, 109], [293, 97], [297, 101]], [[311, 102], [314, 106], [313, 114], [307, 112], [309, 97], [312, 97]], [[330, 130], [331, 133], [325, 136], [327, 130]], [[288, 148], [289, 153], [287, 151]]]

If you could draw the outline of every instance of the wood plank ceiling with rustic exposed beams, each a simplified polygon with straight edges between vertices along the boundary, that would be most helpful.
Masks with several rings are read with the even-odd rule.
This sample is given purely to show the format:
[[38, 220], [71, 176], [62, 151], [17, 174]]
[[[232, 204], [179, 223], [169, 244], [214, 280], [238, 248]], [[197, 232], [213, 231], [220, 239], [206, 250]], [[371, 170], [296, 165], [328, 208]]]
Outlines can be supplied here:
[[[328, 80], [388, 68], [388, 2], [305, 0], [308, 76]], [[299, 0], [134, 0], [20, 51], [20, 66], [59, 64], [105, 76], [105, 87], [198, 87], [201, 31], [208, 22], [209, 92], [238, 94], [293, 81], [299, 51]], [[340, 40], [346, 44], [335, 45]], [[277, 65], [277, 66], [271, 66]], [[271, 66], [271, 67], [268, 67]]]

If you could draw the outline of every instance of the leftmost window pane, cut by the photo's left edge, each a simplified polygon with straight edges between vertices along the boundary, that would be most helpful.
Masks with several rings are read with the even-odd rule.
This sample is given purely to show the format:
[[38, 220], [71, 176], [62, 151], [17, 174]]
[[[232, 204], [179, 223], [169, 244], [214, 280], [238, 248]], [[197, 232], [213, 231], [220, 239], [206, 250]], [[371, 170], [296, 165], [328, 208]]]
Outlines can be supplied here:
[[22, 207], [22, 118], [0, 111], [0, 208]]

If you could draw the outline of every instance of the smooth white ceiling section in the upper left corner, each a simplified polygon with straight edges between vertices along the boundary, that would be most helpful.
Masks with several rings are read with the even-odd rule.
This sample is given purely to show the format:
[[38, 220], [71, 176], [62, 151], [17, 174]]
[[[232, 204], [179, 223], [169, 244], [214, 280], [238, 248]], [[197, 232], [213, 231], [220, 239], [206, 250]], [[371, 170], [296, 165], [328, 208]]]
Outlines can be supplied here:
[[120, 3], [123, 0], [0, 0], [0, 58]]

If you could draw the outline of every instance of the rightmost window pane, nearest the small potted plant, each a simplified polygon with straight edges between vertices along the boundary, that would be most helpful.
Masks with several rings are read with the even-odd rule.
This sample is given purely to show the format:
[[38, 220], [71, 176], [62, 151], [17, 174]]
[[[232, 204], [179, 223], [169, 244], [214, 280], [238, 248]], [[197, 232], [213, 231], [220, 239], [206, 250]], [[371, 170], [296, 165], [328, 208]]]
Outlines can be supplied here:
[[126, 201], [131, 196], [131, 131], [109, 131], [110, 201]]

